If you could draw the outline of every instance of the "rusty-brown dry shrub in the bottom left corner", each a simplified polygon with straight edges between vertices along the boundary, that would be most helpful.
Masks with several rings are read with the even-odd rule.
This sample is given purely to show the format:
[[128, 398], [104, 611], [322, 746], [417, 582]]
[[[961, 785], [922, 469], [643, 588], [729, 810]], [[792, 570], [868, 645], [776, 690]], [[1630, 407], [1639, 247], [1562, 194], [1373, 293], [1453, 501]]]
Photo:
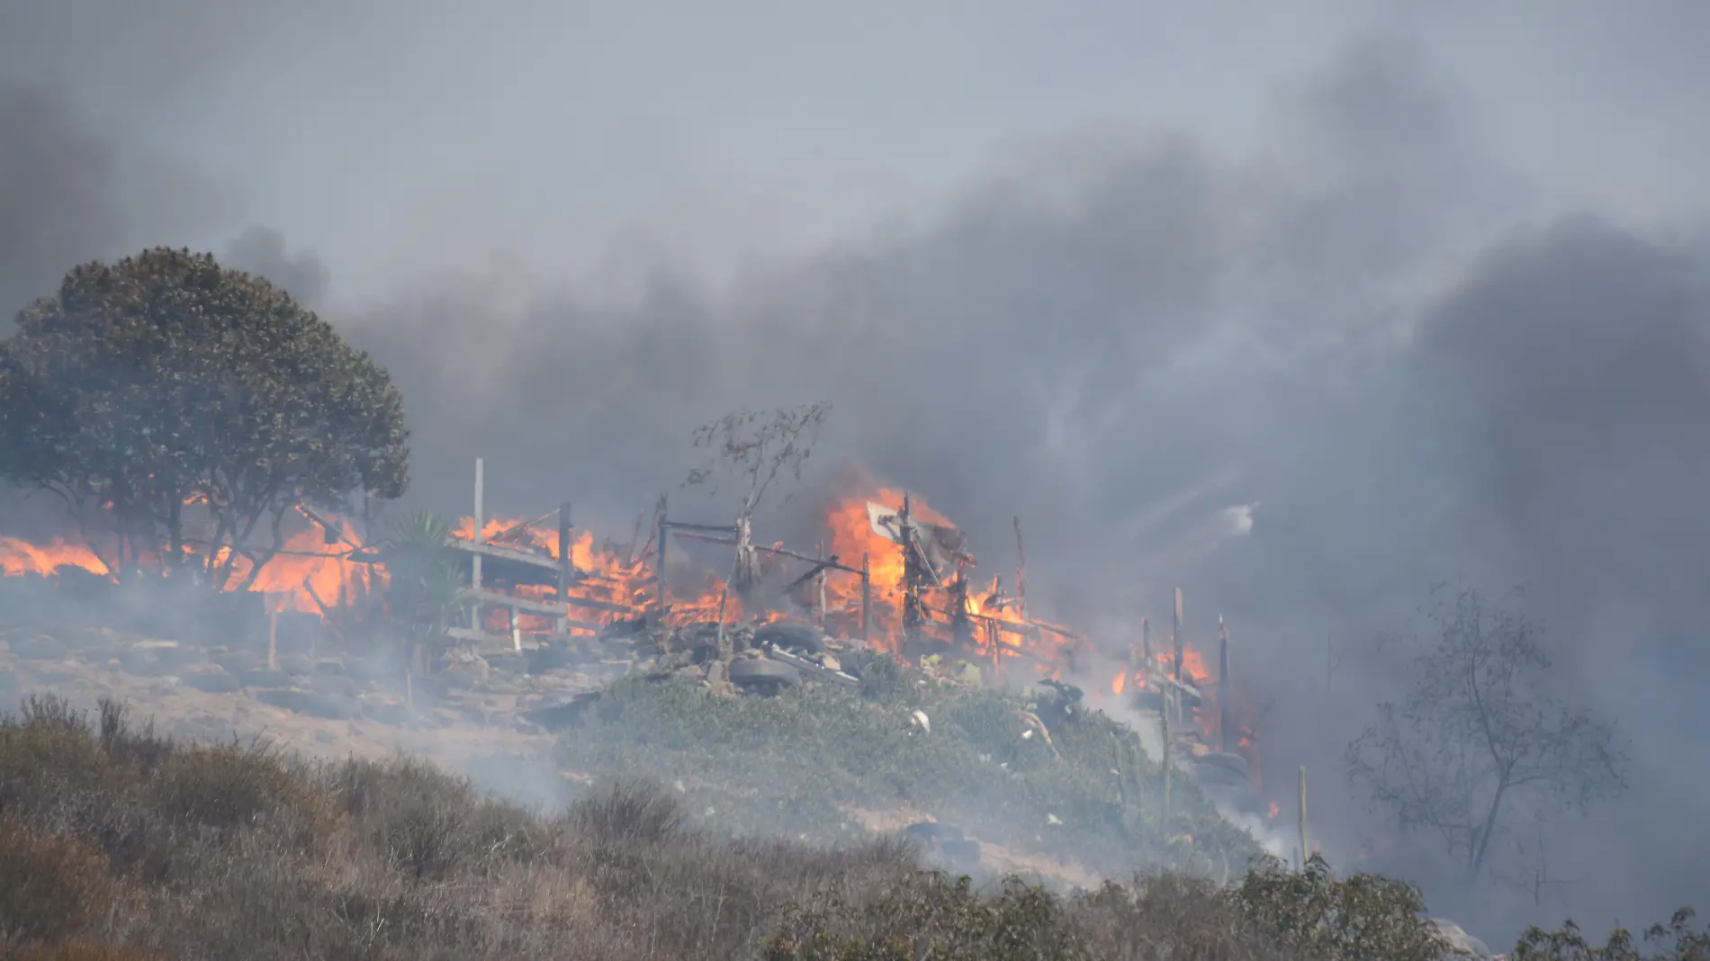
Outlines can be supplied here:
[[0, 817], [0, 934], [19, 940], [82, 934], [118, 896], [101, 852]]

